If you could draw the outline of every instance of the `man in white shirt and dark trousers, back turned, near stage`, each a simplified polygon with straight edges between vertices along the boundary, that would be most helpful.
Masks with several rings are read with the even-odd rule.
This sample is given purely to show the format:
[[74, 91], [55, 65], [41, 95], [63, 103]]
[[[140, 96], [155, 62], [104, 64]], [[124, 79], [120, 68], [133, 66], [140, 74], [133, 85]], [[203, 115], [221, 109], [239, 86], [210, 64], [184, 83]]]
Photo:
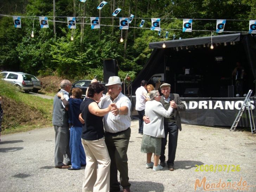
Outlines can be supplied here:
[[141, 81], [141, 86], [136, 90], [136, 105], [135, 109], [139, 114], [139, 133], [143, 134], [143, 116], [145, 115], [145, 103], [147, 98], [147, 82], [145, 80]]

